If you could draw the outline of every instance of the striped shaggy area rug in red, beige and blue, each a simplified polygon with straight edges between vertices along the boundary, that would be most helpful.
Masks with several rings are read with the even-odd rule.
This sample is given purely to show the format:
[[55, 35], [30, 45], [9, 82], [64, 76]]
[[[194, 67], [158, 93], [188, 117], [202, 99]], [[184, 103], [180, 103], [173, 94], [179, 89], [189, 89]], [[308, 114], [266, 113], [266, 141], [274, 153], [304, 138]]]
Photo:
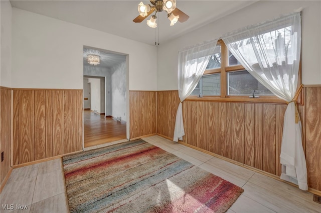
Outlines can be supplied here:
[[225, 212], [243, 189], [142, 139], [63, 157], [70, 212]]

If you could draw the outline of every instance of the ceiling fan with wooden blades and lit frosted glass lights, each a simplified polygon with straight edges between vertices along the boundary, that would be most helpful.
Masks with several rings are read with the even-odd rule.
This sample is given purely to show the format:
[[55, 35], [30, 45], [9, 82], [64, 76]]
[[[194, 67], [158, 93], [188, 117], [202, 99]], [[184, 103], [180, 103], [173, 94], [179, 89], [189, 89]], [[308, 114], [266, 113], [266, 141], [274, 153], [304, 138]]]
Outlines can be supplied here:
[[167, 17], [171, 21], [171, 26], [174, 25], [177, 21], [184, 22], [189, 19], [186, 13], [182, 12], [179, 8], [176, 7], [176, 0], [149, 0], [150, 4], [143, 4], [141, 1], [138, 4], [138, 12], [139, 15], [133, 19], [134, 22], [138, 23], [143, 21], [147, 16], [151, 13], [155, 12], [149, 20], [147, 20], [147, 25], [155, 28], [157, 26], [156, 23], [156, 13], [162, 12], [163, 10], [167, 11]]

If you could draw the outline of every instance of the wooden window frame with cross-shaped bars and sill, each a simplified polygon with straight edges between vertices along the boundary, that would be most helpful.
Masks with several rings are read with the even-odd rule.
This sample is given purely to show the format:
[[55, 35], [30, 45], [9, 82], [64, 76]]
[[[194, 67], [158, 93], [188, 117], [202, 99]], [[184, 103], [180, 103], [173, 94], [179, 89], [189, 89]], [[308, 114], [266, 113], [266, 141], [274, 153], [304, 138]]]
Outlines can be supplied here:
[[[227, 94], [227, 73], [231, 71], [246, 70], [241, 64], [228, 66], [228, 48], [222, 39], [217, 41], [217, 45], [221, 45], [221, 67], [214, 69], [207, 69], [204, 71], [204, 75], [220, 73], [220, 95], [189, 95], [186, 100], [198, 100], [198, 101], [222, 101], [222, 102], [258, 102], [258, 103], [284, 103], [285, 100], [277, 97], [276, 95], [260, 95], [258, 98], [252, 98], [248, 95], [228, 95]], [[298, 73], [298, 85], [301, 84], [301, 58], [299, 63]], [[303, 90], [302, 90], [303, 91]], [[303, 104], [303, 92], [300, 92], [297, 98], [297, 104]]]

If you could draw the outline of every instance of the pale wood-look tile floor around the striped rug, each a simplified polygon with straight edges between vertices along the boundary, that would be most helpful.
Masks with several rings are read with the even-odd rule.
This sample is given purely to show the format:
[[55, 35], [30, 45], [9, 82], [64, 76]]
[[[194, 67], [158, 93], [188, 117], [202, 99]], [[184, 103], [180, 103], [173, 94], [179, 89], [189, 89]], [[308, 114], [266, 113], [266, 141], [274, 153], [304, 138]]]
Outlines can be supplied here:
[[[244, 192], [228, 213], [321, 212], [321, 204], [313, 202], [313, 194], [297, 187], [161, 136], [143, 139], [242, 187]], [[123, 141], [127, 140], [87, 147], [85, 150]], [[0, 204], [0, 212], [68, 212], [61, 158], [13, 169], [0, 194]], [[27, 205], [28, 208], [18, 209], [19, 205]], [[6, 207], [13, 209], [4, 209]]]

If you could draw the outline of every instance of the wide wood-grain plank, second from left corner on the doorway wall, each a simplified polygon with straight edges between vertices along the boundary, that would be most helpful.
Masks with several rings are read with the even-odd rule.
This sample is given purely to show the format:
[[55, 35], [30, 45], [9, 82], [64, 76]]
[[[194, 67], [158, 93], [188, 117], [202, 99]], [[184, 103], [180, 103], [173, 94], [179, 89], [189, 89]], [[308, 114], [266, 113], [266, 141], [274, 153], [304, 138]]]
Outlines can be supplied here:
[[34, 128], [35, 128], [35, 92], [19, 91], [19, 163], [35, 160]]

